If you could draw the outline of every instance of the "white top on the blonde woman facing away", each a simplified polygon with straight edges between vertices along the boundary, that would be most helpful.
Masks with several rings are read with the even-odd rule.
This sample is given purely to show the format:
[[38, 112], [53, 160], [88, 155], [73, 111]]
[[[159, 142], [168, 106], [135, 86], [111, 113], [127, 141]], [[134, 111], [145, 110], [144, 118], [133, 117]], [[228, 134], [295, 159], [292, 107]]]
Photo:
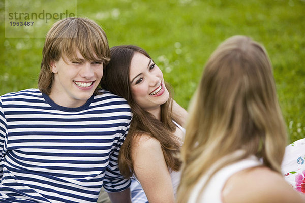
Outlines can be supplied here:
[[212, 176], [205, 189], [201, 191], [204, 183], [208, 178], [206, 175], [203, 176], [199, 180], [199, 182], [195, 185], [190, 195], [188, 203], [195, 203], [195, 202], [223, 203], [222, 190], [227, 180], [233, 174], [239, 171], [259, 165], [261, 165], [261, 162], [258, 160], [258, 158], [255, 156], [250, 156], [249, 158], [225, 166]]

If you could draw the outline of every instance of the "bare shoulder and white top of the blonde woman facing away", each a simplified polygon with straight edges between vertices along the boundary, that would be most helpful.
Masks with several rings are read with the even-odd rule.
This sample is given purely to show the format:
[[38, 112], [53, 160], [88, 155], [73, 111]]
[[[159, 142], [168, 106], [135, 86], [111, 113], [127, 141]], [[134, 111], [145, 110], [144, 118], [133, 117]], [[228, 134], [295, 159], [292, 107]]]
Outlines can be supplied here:
[[281, 203], [305, 202], [281, 177], [262, 166], [254, 155], [221, 168], [202, 190], [203, 176], [193, 188], [188, 203]]

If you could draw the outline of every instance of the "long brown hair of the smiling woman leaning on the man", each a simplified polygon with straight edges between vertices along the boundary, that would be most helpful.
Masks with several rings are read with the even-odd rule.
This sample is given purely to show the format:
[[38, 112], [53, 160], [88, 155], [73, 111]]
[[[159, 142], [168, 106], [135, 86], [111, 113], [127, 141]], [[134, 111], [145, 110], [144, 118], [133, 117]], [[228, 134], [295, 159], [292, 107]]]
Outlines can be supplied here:
[[[176, 126], [171, 117], [172, 95], [170, 93], [170, 98], [165, 104], [161, 105], [160, 121], [135, 102], [129, 79], [130, 63], [135, 52], [151, 59], [149, 54], [138, 46], [123, 45], [112, 47], [110, 49], [110, 61], [104, 69], [104, 75], [101, 80], [102, 88], [125, 98], [133, 112], [128, 136], [119, 151], [120, 172], [126, 178], [129, 178], [134, 173], [131, 155], [132, 142], [134, 136], [141, 136], [143, 133], [148, 133], [160, 142], [167, 166], [174, 171], [178, 171], [181, 165], [177, 156], [180, 151], [180, 142], [173, 136]], [[166, 83], [165, 85], [171, 92], [169, 84]]]

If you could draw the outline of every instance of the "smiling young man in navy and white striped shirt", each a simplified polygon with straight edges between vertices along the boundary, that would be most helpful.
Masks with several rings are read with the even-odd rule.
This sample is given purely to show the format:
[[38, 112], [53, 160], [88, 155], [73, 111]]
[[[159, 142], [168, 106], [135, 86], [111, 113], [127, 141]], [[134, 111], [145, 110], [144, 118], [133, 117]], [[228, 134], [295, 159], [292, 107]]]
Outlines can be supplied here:
[[119, 149], [132, 113], [126, 100], [97, 90], [109, 61], [104, 31], [84, 18], [49, 30], [39, 89], [0, 97], [0, 202], [131, 202]]

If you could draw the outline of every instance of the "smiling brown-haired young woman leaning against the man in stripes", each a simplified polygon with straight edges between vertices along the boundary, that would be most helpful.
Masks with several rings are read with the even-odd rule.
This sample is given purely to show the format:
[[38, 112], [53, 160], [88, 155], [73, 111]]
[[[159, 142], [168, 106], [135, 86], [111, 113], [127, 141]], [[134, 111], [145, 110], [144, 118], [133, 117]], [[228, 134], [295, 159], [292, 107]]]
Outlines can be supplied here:
[[[102, 87], [125, 98], [133, 112], [128, 136], [119, 153], [120, 171], [126, 178], [136, 177], [133, 183], [141, 184], [150, 203], [174, 202], [180, 181], [181, 162], [177, 155], [184, 129], [173, 121], [177, 118], [172, 113], [177, 109], [172, 104], [170, 86], [142, 48], [117, 46], [110, 53]], [[184, 122], [187, 113], [181, 109], [184, 113], [178, 119]], [[131, 190], [133, 194], [133, 185]]]

